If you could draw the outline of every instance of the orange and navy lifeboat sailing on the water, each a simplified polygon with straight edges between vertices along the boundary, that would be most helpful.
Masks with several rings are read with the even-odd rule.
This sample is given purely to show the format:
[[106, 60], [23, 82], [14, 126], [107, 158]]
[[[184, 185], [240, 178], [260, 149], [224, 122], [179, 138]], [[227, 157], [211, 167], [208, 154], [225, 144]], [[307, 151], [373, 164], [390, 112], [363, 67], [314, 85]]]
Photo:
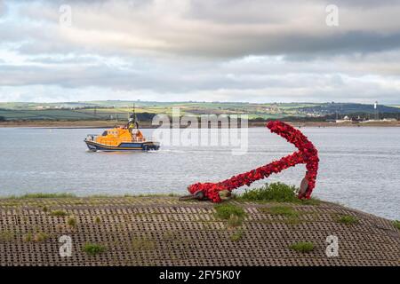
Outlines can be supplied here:
[[158, 142], [149, 141], [143, 136], [133, 115], [125, 126], [105, 130], [101, 135], [89, 134], [84, 142], [94, 152], [149, 151], [160, 147]]

